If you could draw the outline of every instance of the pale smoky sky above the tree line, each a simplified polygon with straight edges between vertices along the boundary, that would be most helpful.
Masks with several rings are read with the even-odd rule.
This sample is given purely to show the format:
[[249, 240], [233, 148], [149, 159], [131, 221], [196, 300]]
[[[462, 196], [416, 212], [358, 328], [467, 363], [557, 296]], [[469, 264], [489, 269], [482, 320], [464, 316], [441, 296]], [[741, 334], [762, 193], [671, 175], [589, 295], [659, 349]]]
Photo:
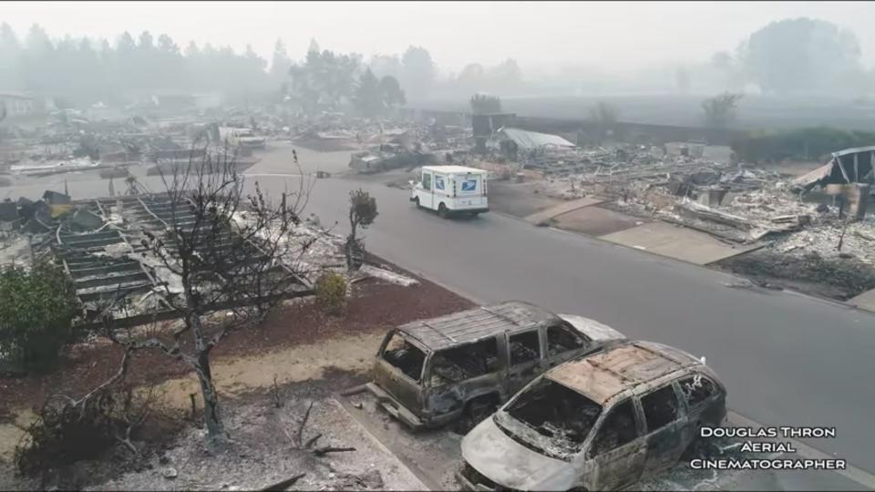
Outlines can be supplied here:
[[293, 58], [311, 38], [340, 52], [426, 47], [440, 67], [514, 57], [523, 71], [573, 64], [628, 70], [734, 50], [773, 20], [809, 16], [852, 30], [875, 65], [870, 2], [4, 2], [0, 21], [19, 36], [38, 23], [50, 36], [166, 33], [180, 47], [247, 44], [270, 59], [278, 37]]

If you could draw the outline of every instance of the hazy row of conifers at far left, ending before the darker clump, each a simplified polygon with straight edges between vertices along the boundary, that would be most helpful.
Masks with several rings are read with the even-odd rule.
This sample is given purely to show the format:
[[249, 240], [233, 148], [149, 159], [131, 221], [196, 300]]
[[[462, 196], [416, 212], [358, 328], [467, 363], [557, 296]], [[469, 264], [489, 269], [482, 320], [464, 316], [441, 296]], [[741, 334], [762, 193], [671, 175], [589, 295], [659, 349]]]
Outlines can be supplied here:
[[27, 90], [77, 102], [108, 101], [138, 91], [255, 92], [275, 87], [267, 62], [251, 47], [180, 47], [167, 35], [125, 32], [110, 43], [87, 37], [51, 39], [32, 26], [24, 39], [0, 26], [0, 90]]

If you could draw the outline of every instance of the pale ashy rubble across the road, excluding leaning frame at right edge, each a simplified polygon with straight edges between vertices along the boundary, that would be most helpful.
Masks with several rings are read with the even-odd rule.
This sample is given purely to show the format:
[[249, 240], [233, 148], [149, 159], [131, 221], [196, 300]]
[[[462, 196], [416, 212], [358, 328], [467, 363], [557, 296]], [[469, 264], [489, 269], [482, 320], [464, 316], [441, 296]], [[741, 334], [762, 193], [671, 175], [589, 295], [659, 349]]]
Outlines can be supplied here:
[[[714, 148], [684, 148], [541, 149], [521, 160], [522, 169], [540, 171], [540, 192], [547, 196], [597, 197], [606, 200], [600, 207], [703, 231], [729, 244], [765, 246], [735, 261], [750, 263], [738, 272], [757, 276], [772, 268], [777, 277], [793, 278], [798, 269], [813, 269], [810, 282], [840, 284], [839, 292], [829, 292], [832, 297], [875, 287], [868, 280], [875, 278], [871, 214], [855, 221], [846, 208], [839, 218], [839, 200], [810, 200], [790, 176], [709, 159], [719, 153], [709, 153]], [[852, 274], [860, 269], [872, 274]]]

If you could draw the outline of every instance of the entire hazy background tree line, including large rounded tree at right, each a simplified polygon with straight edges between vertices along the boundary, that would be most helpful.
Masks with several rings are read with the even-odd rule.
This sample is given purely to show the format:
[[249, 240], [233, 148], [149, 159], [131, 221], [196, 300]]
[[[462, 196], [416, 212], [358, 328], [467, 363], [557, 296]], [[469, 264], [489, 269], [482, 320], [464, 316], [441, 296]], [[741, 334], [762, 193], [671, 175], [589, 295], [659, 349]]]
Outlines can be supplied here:
[[[735, 51], [673, 70], [674, 81], [665, 87], [674, 85], [681, 94], [728, 91], [703, 105], [704, 124], [712, 127], [730, 125], [738, 102], [731, 96], [749, 92], [751, 85], [766, 94], [856, 97], [875, 82], [875, 73], [862, 67], [853, 33], [808, 18], [770, 23], [747, 36]], [[587, 74], [568, 72], [562, 77], [568, 78], [566, 84], [577, 80], [585, 85], [593, 75]], [[640, 83], [654, 85], [664, 78], [651, 76]], [[191, 42], [183, 48], [170, 36], [149, 32], [123, 33], [110, 43], [70, 36], [51, 39], [40, 26], [19, 38], [7, 24], [0, 26], [0, 90], [70, 97], [80, 105], [138, 92], [221, 91], [247, 101], [291, 103], [307, 113], [343, 110], [379, 116], [408, 100], [467, 98], [478, 92], [537, 94], [538, 84], [524, 79], [510, 58], [493, 67], [469, 64], [441, 76], [421, 46], [365, 61], [359, 54], [322, 50], [313, 41], [297, 61], [278, 40], [268, 61], [252, 47], [236, 53], [229, 46]]]

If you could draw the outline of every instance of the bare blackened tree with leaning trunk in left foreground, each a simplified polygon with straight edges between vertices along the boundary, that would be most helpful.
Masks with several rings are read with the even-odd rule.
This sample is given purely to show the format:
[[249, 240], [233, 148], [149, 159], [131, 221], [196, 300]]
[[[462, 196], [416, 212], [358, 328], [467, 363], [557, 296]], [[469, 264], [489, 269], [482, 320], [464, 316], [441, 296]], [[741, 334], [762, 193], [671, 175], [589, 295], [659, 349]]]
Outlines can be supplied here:
[[[141, 262], [162, 283], [161, 301], [179, 320], [172, 333], [120, 335], [108, 322], [110, 339], [127, 351], [153, 348], [181, 359], [201, 386], [203, 418], [211, 441], [225, 436], [210, 354], [233, 330], [260, 323], [284, 298], [310, 294], [301, 255], [315, 241], [299, 217], [312, 186], [269, 200], [258, 183], [251, 193], [227, 150], [161, 175], [166, 192], [142, 196], [141, 212], [154, 228], [140, 232]], [[157, 231], [157, 232], [156, 232]], [[118, 305], [108, 306], [110, 310]]]

